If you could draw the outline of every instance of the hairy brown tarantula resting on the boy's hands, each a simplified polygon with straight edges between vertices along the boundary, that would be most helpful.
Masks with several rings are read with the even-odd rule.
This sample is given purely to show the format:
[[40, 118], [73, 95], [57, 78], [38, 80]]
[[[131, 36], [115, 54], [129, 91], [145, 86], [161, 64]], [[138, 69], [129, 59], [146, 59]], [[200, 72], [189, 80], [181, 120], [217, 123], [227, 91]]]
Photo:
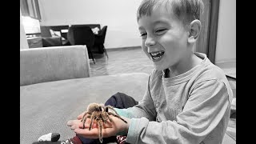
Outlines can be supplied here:
[[[113, 110], [115, 114], [110, 110]], [[86, 118], [91, 118], [89, 130], [91, 130], [93, 122], [98, 122], [98, 126], [99, 126], [98, 138], [99, 138], [99, 141], [102, 143], [103, 141], [102, 140], [102, 126], [103, 126], [102, 122], [106, 123], [107, 120], [109, 120], [110, 122], [113, 122], [112, 118], [110, 118], [110, 115], [120, 118], [123, 122], [126, 122], [126, 120], [124, 120], [123, 118], [120, 117], [120, 115], [118, 115], [116, 110], [114, 110], [114, 107], [104, 106], [103, 104], [98, 104], [98, 103], [90, 103], [90, 105], [87, 107], [86, 113], [82, 116], [81, 122], [83, 122], [83, 129], [85, 128]]]

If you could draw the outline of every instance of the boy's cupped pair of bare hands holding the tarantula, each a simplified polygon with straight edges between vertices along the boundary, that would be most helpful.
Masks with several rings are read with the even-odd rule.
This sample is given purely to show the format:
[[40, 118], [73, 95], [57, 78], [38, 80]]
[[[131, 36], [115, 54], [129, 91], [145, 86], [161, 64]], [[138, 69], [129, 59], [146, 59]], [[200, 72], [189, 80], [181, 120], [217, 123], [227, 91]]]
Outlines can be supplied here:
[[[114, 136], [114, 135], [117, 135], [118, 133], [128, 132], [130, 118], [122, 117], [126, 120], [127, 123], [123, 122], [121, 119], [116, 118], [114, 116], [110, 116], [110, 118], [112, 118], [113, 122], [108, 121], [106, 123], [103, 123], [103, 126], [102, 126], [103, 138]], [[74, 130], [76, 134], [82, 135], [85, 138], [98, 138], [98, 133], [99, 133], [98, 122], [94, 122], [92, 129], [89, 130], [90, 118], [87, 118], [87, 119], [86, 119], [85, 129], [82, 129], [81, 120], [69, 121], [68, 126], [71, 126], [71, 129]]]

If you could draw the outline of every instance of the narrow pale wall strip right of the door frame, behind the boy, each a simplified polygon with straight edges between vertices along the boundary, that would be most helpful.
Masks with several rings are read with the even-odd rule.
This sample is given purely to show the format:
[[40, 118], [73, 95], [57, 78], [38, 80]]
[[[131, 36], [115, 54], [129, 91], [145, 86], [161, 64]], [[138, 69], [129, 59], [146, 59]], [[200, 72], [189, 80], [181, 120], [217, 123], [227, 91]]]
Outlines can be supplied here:
[[215, 63], [236, 62], [236, 1], [220, 0]]

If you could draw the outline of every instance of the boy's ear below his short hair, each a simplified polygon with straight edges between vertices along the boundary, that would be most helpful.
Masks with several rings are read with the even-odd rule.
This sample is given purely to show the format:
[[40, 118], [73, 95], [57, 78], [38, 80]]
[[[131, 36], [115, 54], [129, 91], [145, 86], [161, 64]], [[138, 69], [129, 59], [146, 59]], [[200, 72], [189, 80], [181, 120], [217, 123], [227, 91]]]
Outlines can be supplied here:
[[201, 22], [198, 19], [195, 19], [194, 21], [190, 22], [190, 25], [188, 27], [189, 32], [189, 43], [194, 43], [199, 37], [200, 31], [201, 31], [202, 25]]

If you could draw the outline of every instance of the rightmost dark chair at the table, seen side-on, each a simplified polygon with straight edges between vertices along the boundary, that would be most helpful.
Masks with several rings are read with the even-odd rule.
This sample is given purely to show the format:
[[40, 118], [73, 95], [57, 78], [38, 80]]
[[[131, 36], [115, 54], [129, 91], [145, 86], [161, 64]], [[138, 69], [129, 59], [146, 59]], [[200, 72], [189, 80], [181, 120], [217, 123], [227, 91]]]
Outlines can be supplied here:
[[106, 57], [109, 58], [104, 46], [104, 42], [106, 38], [106, 29], [107, 29], [107, 26], [103, 26], [102, 30], [100, 30], [98, 34], [95, 34], [94, 47], [98, 47], [98, 51], [100, 53], [104, 52], [106, 54]]

